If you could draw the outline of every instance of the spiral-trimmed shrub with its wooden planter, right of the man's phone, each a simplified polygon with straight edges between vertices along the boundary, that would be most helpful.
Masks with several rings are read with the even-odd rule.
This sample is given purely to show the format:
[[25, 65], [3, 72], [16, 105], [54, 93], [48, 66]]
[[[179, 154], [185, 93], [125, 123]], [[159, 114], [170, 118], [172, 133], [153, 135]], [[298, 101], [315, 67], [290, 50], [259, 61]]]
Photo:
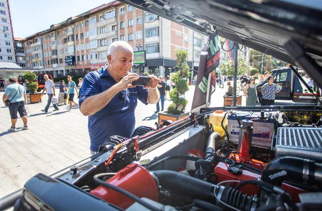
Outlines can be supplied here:
[[167, 120], [180, 120], [189, 116], [189, 112], [185, 112], [188, 101], [185, 99], [185, 92], [189, 90], [187, 77], [189, 76], [189, 66], [186, 62], [188, 52], [185, 50], [176, 50], [177, 69], [178, 71], [171, 76], [171, 80], [176, 83], [176, 87], [170, 91], [172, 103], [168, 107], [167, 112], [158, 113], [158, 123], [163, 124]]

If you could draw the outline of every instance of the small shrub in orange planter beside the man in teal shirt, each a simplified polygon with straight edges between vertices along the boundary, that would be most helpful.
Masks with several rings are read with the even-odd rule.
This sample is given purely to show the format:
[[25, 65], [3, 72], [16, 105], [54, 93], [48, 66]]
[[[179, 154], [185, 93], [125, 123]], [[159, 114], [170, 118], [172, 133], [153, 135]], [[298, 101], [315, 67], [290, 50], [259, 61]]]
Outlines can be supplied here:
[[26, 83], [26, 86], [29, 90], [29, 93], [27, 93], [28, 103], [41, 102], [41, 93], [36, 93], [38, 89], [36, 74], [28, 71], [24, 73], [23, 78], [24, 80], [28, 80], [28, 83]]

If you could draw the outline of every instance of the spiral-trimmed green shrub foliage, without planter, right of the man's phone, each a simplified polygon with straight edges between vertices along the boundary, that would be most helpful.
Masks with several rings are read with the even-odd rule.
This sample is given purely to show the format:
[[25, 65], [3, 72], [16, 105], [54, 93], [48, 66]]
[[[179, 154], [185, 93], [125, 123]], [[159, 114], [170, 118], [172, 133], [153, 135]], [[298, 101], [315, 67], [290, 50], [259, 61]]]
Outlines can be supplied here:
[[168, 113], [181, 114], [185, 111], [188, 100], [181, 97], [189, 90], [186, 78], [189, 76], [189, 66], [186, 62], [188, 52], [176, 50], [178, 71], [172, 75], [171, 80], [176, 83], [176, 88], [170, 91], [170, 98], [173, 101], [168, 107]]

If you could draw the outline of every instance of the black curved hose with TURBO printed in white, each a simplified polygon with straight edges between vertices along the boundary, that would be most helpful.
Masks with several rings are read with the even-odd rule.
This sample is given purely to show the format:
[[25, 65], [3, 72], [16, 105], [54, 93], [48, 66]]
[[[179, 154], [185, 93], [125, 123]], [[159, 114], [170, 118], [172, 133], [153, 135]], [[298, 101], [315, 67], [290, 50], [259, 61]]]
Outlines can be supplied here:
[[280, 186], [284, 180], [316, 184], [322, 182], [322, 165], [312, 160], [281, 157], [272, 160], [263, 170], [261, 179]]

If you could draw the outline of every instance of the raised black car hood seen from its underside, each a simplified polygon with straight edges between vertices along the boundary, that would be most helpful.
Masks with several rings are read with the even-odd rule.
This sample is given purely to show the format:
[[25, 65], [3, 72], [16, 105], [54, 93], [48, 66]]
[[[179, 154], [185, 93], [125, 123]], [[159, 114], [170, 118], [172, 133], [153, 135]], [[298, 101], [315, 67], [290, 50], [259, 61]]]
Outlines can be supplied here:
[[304, 69], [322, 87], [319, 0], [121, 0], [204, 34], [219, 36]]

